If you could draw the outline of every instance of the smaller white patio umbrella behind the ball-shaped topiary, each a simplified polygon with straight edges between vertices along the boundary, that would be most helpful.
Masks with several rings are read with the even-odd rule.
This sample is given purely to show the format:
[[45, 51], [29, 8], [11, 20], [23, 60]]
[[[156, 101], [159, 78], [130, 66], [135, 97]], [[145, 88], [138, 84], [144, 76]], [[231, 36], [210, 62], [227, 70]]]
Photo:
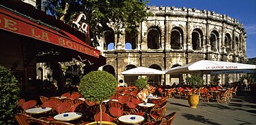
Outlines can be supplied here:
[[163, 75], [165, 71], [156, 70], [154, 68], [137, 67], [125, 70], [121, 73], [122, 75]]

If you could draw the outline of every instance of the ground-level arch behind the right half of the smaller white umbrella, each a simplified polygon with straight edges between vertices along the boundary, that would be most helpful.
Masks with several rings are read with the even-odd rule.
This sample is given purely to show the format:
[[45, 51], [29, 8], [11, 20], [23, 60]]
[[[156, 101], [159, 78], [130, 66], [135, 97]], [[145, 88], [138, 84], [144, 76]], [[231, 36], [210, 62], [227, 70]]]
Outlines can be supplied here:
[[[162, 70], [162, 68], [156, 64], [149, 66], [149, 68], [154, 68], [156, 70]], [[161, 77], [162, 75], [149, 75], [149, 81], [151, 81], [154, 85], [161, 85]]]

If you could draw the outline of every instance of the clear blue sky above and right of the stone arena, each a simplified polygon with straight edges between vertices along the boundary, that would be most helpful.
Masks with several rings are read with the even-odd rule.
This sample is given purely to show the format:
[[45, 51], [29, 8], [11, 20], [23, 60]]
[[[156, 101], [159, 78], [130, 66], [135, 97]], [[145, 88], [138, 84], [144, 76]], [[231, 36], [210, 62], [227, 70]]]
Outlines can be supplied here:
[[149, 6], [175, 6], [215, 11], [244, 23], [247, 57], [256, 57], [256, 0], [149, 0]]

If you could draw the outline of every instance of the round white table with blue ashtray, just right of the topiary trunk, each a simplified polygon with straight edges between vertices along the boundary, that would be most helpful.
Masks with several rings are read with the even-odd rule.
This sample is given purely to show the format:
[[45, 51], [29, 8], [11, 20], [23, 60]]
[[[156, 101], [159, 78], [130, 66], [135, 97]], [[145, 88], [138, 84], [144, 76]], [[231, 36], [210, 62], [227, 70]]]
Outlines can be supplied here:
[[138, 124], [144, 121], [144, 117], [140, 115], [122, 115], [118, 117], [118, 120], [125, 124]]

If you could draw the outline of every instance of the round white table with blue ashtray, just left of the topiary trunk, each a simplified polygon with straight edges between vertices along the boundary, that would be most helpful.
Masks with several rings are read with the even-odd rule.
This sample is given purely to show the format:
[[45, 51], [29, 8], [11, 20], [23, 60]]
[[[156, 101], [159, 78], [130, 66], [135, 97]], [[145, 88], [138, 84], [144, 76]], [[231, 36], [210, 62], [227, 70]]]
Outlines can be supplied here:
[[[68, 115], [68, 116], [64, 116], [64, 115]], [[67, 121], [72, 121], [72, 120], [75, 120], [75, 119], [79, 119], [80, 117], [82, 117], [82, 113], [71, 112], [71, 113], [62, 113], [62, 114], [59, 114], [59, 115], [55, 115], [55, 117], [53, 117], [53, 119], [56, 119], [58, 121], [67, 122]]]

